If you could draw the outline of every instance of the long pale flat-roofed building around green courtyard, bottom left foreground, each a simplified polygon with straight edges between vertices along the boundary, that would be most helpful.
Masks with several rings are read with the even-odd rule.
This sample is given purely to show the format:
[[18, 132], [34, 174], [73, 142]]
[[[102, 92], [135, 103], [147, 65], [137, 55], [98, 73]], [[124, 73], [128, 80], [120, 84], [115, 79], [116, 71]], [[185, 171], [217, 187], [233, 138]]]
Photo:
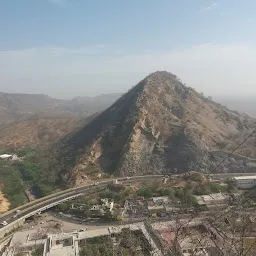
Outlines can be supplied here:
[[151, 239], [143, 222], [61, 234], [43, 234], [35, 232], [35, 230], [17, 232], [13, 235], [10, 244], [5, 248], [1, 255], [77, 256], [79, 255], [81, 248], [87, 245], [88, 239], [99, 236], [108, 236], [113, 238], [112, 241], [114, 245], [115, 236], [120, 234], [123, 229], [127, 228], [131, 231], [141, 231], [144, 239], [151, 245], [151, 255], [159, 255], [157, 253], [158, 248]]

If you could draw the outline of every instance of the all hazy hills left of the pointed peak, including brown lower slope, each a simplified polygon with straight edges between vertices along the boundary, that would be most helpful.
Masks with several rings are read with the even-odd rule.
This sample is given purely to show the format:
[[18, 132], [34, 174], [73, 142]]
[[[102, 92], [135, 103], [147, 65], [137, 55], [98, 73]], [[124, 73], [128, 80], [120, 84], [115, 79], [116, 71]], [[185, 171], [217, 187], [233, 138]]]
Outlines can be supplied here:
[[109, 107], [119, 96], [60, 100], [43, 94], [0, 93], [0, 146], [49, 146]]

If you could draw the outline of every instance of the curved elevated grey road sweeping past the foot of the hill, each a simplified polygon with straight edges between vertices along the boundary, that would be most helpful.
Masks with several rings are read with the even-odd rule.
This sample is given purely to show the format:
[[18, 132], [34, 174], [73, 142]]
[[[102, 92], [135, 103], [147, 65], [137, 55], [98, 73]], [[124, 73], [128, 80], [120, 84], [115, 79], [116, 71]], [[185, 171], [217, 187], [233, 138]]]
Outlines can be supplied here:
[[[232, 176], [239, 175], [252, 175], [251, 173], [233, 173], [233, 174], [213, 174], [216, 178], [226, 178]], [[179, 175], [172, 175], [171, 177], [177, 177]], [[117, 178], [117, 179], [109, 179], [104, 181], [99, 181], [94, 184], [89, 184], [86, 186], [75, 187], [67, 190], [60, 191], [58, 193], [40, 198], [38, 200], [32, 201], [25, 205], [22, 205], [16, 209], [13, 209], [0, 217], [0, 223], [3, 221], [7, 221], [8, 225], [0, 228], [0, 232], [3, 229], [7, 229], [7, 227], [11, 226], [20, 220], [24, 220], [32, 215], [39, 213], [40, 211], [46, 210], [57, 204], [65, 202], [67, 200], [71, 200], [75, 197], [78, 197], [82, 194], [91, 194], [100, 191], [101, 189], [105, 189], [107, 185], [113, 184], [115, 180], [118, 180], [122, 184], [130, 184], [130, 183], [138, 183], [143, 181], [153, 181], [156, 179], [163, 179], [164, 175], [145, 175], [145, 176], [133, 176], [129, 178]], [[16, 210], [19, 210], [19, 213], [16, 213]], [[17, 215], [17, 217], [15, 217]]]

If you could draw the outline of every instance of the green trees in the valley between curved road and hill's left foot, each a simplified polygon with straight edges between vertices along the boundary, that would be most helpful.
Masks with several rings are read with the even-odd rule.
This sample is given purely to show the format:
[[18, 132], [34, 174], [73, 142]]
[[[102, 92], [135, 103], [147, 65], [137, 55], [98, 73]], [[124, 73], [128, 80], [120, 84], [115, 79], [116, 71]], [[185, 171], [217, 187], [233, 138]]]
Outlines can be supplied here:
[[51, 175], [45, 173], [47, 159], [41, 149], [27, 147], [9, 151], [23, 158], [22, 161], [0, 161], [0, 185], [12, 208], [27, 201], [25, 190], [28, 188], [33, 189], [38, 197], [56, 189], [56, 182], [51, 182]]

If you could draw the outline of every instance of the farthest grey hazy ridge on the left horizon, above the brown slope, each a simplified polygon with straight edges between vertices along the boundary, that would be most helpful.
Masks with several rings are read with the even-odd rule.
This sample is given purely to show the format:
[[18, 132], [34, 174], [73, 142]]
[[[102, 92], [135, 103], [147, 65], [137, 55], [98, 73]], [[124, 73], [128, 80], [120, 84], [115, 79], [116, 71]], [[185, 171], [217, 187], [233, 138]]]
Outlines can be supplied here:
[[44, 94], [0, 92], [0, 124], [42, 118], [84, 117], [109, 107], [120, 94], [77, 97], [72, 100], [54, 99]]

